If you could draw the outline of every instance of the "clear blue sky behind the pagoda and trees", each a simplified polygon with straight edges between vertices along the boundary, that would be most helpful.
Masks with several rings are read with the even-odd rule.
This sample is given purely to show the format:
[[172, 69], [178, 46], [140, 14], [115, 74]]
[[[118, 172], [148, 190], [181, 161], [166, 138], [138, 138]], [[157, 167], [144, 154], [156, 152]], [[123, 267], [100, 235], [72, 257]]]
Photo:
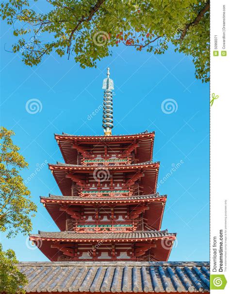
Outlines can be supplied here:
[[[12, 28], [1, 29], [1, 124], [16, 133], [15, 143], [29, 163], [22, 172], [28, 181], [38, 213], [33, 233], [58, 231], [39, 196], [60, 195], [47, 164], [63, 161], [54, 133], [103, 134], [102, 80], [109, 66], [115, 83], [113, 134], [133, 134], [154, 130], [153, 160], [160, 161], [158, 191], [167, 194], [162, 229], [178, 233], [178, 242], [169, 260], [209, 260], [209, 84], [195, 78], [191, 56], [175, 53], [172, 47], [163, 55], [135, 52], [120, 46], [113, 56], [98, 62], [97, 69], [81, 69], [73, 57], [67, 60], [55, 53], [37, 67], [29, 68], [10, 49]], [[40, 102], [40, 112], [30, 114], [26, 104]], [[171, 114], [163, 102], [173, 99]], [[172, 168], [180, 163], [175, 171]], [[166, 174], [170, 176], [164, 180]], [[0, 235], [4, 249], [12, 248], [21, 261], [43, 261], [46, 257], [18, 235], [7, 240]]]

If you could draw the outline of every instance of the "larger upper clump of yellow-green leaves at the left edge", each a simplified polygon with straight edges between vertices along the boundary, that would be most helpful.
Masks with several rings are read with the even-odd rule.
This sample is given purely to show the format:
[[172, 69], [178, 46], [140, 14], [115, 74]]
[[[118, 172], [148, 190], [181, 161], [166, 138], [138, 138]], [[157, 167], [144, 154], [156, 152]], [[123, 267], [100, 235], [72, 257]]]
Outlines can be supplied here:
[[30, 191], [19, 174], [28, 164], [18, 153], [12, 135], [13, 131], [0, 129], [0, 231], [7, 231], [8, 238], [19, 232], [27, 235], [32, 229], [31, 216], [36, 211]]

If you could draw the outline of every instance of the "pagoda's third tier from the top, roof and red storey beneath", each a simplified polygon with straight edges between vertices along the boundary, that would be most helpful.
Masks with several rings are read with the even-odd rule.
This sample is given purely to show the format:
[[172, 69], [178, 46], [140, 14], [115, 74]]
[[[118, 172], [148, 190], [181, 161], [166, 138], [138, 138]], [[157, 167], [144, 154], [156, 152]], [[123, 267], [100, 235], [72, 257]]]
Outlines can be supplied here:
[[41, 197], [41, 202], [61, 231], [66, 228], [73, 230], [76, 224], [132, 224], [133, 220], [138, 229], [160, 230], [166, 195], [157, 193], [96, 199], [94, 196], [50, 195]]

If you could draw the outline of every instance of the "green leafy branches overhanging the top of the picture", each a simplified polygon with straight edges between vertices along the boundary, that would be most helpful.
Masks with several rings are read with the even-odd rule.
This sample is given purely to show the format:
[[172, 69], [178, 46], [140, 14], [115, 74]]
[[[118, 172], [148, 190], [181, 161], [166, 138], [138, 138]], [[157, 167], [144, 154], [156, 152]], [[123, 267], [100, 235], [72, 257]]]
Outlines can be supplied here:
[[[36, 0], [34, 0], [36, 1]], [[209, 81], [209, 0], [47, 0], [47, 13], [32, 1], [8, 0], [0, 13], [18, 37], [13, 52], [29, 66], [55, 51], [74, 55], [82, 68], [123, 44], [162, 54], [168, 43], [193, 56], [196, 77]]]

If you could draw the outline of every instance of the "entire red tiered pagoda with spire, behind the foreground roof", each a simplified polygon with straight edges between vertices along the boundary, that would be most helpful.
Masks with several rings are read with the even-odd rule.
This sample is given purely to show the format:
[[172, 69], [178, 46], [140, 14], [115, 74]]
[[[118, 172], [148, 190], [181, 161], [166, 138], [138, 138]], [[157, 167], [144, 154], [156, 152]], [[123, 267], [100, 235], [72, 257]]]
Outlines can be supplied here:
[[63, 196], [41, 202], [60, 232], [30, 239], [52, 261], [166, 261], [176, 234], [161, 230], [166, 195], [156, 193], [154, 132], [112, 135], [109, 69], [102, 88], [104, 136], [55, 135], [65, 163], [49, 169]]

